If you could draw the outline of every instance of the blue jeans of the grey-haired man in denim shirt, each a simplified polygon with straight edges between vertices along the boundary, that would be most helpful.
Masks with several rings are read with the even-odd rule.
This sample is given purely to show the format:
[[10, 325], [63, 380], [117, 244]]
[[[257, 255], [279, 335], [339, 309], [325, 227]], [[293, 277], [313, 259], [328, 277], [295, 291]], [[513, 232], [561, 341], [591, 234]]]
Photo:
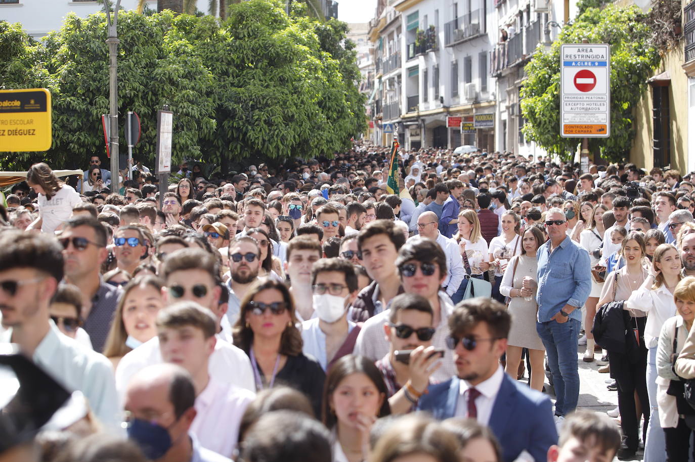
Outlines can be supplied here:
[[579, 365], [577, 335], [579, 320], [536, 322], [536, 331], [543, 340], [548, 355], [548, 366], [555, 386], [555, 415], [567, 415], [579, 402]]

